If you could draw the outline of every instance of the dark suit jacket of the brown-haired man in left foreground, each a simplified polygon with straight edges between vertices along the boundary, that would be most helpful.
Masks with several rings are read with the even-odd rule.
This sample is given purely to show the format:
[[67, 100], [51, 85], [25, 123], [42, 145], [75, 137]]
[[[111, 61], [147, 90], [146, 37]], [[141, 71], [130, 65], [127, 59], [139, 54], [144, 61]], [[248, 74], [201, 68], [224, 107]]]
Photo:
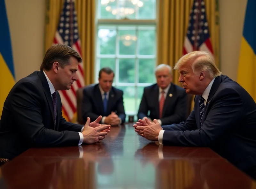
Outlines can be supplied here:
[[54, 127], [52, 95], [43, 71], [20, 79], [8, 94], [1, 117], [0, 156], [12, 159], [30, 147], [78, 145], [83, 125], [62, 117], [57, 92]]

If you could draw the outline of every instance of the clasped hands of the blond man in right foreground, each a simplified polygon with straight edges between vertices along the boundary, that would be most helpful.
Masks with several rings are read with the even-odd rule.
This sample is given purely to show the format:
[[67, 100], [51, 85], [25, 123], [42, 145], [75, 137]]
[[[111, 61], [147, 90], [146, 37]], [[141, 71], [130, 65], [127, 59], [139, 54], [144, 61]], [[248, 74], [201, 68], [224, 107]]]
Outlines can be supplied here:
[[140, 136], [153, 141], [158, 140], [159, 132], [162, 130], [156, 119], [154, 119], [154, 122], [150, 122], [148, 118], [145, 118], [145, 121], [139, 119], [139, 122], [133, 125], [133, 127]]

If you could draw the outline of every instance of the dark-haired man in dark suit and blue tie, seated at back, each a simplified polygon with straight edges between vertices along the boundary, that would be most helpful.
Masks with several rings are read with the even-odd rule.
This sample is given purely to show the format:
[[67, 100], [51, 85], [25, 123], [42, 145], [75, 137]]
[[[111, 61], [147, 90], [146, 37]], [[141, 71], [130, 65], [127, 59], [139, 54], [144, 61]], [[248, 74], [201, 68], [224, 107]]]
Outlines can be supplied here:
[[114, 72], [106, 67], [99, 72], [99, 84], [84, 88], [82, 116], [91, 119], [103, 116], [101, 124], [118, 125], [124, 123], [124, 101], [122, 90], [112, 87]]

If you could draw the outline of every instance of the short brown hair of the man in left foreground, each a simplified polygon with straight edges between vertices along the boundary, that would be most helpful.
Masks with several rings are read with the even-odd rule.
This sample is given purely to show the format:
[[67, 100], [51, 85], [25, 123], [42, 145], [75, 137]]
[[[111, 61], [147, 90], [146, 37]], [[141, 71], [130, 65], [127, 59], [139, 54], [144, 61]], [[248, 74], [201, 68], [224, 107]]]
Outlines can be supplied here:
[[70, 64], [69, 59], [71, 57], [76, 58], [79, 63], [82, 62], [80, 55], [68, 45], [54, 44], [46, 51], [40, 70], [51, 70], [54, 62], [58, 62], [60, 67], [64, 68]]

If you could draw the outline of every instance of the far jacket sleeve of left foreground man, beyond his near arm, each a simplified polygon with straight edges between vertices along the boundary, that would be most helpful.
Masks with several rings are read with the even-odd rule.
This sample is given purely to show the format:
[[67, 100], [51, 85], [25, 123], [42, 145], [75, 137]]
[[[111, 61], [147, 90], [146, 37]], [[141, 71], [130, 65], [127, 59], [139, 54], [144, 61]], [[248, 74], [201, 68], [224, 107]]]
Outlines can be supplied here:
[[[60, 99], [60, 95], [58, 94], [58, 102], [61, 103], [61, 99]], [[61, 106], [62, 107], [62, 104]], [[66, 119], [64, 117], [62, 117], [62, 111], [61, 109], [59, 110], [61, 113], [60, 116], [60, 124], [59, 124], [59, 131], [75, 131], [75, 132], [81, 132], [82, 127], [84, 125], [79, 125], [79, 124], [74, 124], [74, 123], [70, 123], [68, 121], [66, 121]]]

